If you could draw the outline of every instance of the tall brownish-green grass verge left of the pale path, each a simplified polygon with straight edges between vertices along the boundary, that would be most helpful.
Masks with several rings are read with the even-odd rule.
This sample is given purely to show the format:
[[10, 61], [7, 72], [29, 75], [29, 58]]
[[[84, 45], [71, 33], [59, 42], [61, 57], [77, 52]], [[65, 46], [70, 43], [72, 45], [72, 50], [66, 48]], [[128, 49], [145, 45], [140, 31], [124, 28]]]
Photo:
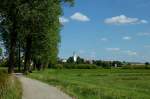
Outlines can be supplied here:
[[0, 99], [21, 99], [22, 88], [18, 79], [0, 70]]

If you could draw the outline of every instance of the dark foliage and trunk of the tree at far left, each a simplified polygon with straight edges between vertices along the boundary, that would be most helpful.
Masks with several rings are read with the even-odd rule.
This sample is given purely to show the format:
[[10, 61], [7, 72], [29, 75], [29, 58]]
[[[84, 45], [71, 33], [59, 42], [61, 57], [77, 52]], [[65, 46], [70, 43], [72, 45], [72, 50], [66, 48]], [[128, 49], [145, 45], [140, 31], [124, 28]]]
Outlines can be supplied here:
[[2, 32], [2, 40], [5, 48], [9, 53], [9, 73], [13, 72], [15, 65], [15, 51], [17, 42], [17, 29], [19, 28], [19, 6], [22, 5], [22, 0], [0, 0], [0, 14], [3, 18], [0, 26], [4, 29]]

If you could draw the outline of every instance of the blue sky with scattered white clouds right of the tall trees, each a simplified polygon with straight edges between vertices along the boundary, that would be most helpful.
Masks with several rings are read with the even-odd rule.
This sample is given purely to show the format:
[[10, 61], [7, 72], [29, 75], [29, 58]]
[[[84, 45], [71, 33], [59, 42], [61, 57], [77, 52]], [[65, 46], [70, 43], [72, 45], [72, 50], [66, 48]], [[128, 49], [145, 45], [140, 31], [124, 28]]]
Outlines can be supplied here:
[[150, 0], [75, 0], [63, 9], [59, 57], [150, 62]]

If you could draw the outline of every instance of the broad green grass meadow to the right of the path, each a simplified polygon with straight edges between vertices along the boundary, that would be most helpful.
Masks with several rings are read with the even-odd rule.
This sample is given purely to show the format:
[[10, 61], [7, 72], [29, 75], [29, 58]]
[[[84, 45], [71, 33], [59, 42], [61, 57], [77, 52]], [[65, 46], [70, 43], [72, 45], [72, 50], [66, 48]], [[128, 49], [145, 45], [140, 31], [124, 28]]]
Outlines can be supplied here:
[[150, 70], [77, 69], [33, 72], [75, 99], [150, 99]]

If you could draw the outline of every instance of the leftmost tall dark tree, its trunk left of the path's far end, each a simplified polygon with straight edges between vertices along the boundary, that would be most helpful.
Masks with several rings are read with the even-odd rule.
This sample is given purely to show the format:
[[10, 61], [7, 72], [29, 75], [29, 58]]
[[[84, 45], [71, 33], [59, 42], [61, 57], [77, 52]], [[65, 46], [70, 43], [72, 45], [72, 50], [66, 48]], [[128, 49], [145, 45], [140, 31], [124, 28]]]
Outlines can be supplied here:
[[15, 49], [16, 49], [16, 37], [17, 37], [17, 16], [18, 16], [18, 4], [19, 0], [0, 0], [0, 13], [4, 17], [3, 25], [7, 25], [9, 32], [9, 68], [8, 72], [12, 73], [15, 66]]

